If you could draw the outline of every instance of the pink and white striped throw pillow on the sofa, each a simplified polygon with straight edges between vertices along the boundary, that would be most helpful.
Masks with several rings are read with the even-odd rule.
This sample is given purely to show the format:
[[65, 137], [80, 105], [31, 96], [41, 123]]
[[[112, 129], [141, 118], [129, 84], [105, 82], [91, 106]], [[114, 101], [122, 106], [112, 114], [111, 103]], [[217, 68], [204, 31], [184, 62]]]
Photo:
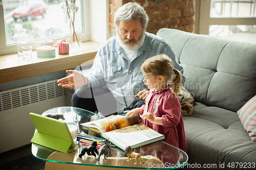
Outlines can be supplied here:
[[256, 95], [239, 111], [238, 116], [252, 141], [256, 141]]

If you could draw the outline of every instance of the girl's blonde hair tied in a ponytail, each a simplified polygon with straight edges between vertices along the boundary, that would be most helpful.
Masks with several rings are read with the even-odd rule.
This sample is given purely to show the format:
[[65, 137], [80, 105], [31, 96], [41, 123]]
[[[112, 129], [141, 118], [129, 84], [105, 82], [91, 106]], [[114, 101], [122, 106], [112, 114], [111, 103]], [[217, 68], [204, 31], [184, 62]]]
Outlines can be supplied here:
[[141, 70], [147, 74], [163, 76], [165, 80], [169, 80], [174, 72], [174, 76], [172, 80], [170, 80], [170, 84], [172, 85], [175, 94], [180, 92], [182, 75], [179, 70], [173, 67], [173, 61], [165, 54], [159, 54], [148, 58], [141, 65]]

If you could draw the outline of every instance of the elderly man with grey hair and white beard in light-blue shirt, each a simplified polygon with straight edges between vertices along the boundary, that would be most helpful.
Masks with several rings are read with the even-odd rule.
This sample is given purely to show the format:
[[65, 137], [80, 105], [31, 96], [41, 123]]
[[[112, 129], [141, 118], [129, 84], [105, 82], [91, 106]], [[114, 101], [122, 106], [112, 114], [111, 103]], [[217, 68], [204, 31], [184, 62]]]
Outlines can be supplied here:
[[174, 67], [183, 73], [170, 45], [145, 32], [148, 16], [138, 3], [121, 6], [114, 21], [116, 36], [101, 46], [90, 74], [83, 76], [76, 70], [67, 70], [71, 75], [57, 81], [58, 86], [65, 88], [82, 86], [73, 94], [73, 107], [98, 111], [104, 116], [123, 114], [124, 110], [144, 104], [148, 90], [140, 66], [147, 58], [166, 54], [173, 60]]

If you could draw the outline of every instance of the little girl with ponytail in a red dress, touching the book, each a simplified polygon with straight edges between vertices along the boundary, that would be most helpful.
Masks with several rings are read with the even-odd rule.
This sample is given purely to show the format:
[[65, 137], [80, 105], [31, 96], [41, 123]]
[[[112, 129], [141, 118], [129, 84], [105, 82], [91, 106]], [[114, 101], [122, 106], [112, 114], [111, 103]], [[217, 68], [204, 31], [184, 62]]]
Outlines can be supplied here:
[[[173, 68], [172, 60], [160, 54], [144, 61], [141, 71], [143, 82], [150, 89], [145, 105], [126, 111], [125, 116], [140, 114], [141, 122], [164, 135], [163, 141], [187, 152], [186, 138], [181, 117], [181, 105], [175, 94], [179, 92], [182, 76]], [[174, 76], [170, 82], [172, 72]], [[173, 88], [174, 93], [170, 88]]]

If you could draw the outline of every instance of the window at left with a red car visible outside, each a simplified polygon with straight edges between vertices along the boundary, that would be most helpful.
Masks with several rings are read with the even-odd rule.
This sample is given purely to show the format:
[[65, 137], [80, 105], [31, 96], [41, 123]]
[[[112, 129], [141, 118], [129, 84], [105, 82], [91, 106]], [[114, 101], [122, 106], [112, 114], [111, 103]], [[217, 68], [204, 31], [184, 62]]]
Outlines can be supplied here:
[[[33, 49], [37, 42], [44, 39], [66, 39], [72, 32], [67, 15], [67, 6], [60, 0], [0, 0], [0, 55], [17, 53], [16, 43], [20, 29], [26, 29], [26, 38]], [[70, 0], [68, 1], [70, 5]], [[79, 7], [72, 19], [77, 38], [88, 41], [90, 36], [86, 27], [89, 22], [86, 10], [89, 1], [76, 0]], [[3, 15], [4, 14], [4, 15]], [[5, 23], [2, 25], [2, 23]], [[4, 30], [4, 31], [3, 31]]]

